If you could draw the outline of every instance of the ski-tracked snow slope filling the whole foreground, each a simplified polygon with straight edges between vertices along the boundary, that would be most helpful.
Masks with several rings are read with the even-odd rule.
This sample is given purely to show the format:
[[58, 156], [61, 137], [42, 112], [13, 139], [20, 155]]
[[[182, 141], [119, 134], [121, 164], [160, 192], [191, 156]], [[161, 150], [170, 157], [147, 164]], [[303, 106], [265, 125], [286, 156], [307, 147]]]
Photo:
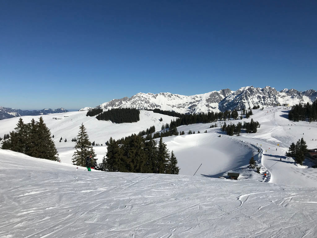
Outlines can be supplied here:
[[0, 180], [1, 238], [317, 236], [315, 188], [76, 171], [1, 149]]

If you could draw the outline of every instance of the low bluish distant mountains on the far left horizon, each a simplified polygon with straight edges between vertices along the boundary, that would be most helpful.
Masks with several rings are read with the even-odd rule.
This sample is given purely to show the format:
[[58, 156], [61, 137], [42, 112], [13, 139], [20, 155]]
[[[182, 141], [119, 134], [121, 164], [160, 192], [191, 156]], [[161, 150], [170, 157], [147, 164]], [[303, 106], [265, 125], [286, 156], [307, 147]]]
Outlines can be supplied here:
[[16, 117], [16, 116], [39, 116], [39, 115], [47, 115], [50, 113], [61, 113], [68, 112], [68, 110], [64, 108], [58, 109], [42, 109], [42, 110], [21, 110], [21, 109], [13, 109], [13, 108], [5, 108], [0, 106], [0, 120]]

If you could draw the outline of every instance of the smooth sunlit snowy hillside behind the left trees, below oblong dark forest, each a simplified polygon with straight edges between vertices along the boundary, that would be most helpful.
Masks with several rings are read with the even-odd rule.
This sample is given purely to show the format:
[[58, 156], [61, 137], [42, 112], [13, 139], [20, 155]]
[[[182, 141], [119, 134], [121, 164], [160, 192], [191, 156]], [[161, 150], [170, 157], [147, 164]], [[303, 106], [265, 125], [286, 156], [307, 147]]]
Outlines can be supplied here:
[[[103, 146], [94, 147], [97, 158], [101, 162], [102, 157], [107, 153], [105, 143], [111, 136], [115, 140], [121, 139], [133, 133], [137, 134], [153, 125], [157, 131], [160, 131], [163, 124], [170, 123], [171, 120], [175, 119], [175, 117], [153, 113], [152, 111], [141, 111], [139, 122], [116, 124], [110, 121], [98, 121], [95, 117], [86, 116], [86, 113], [86, 111], [74, 111], [54, 115], [42, 115], [52, 136], [54, 135], [53, 140], [62, 162], [72, 163], [75, 142], [71, 140], [77, 136], [81, 123], [86, 127], [91, 142], [95, 141], [95, 143], [100, 145], [103, 144]], [[162, 122], [159, 121], [161, 117], [163, 119]], [[38, 121], [38, 116], [22, 117], [24, 123], [29, 123], [32, 118]], [[0, 137], [12, 131], [16, 127], [18, 120], [19, 118], [16, 117], [0, 120]], [[61, 138], [62, 141], [59, 142]], [[67, 139], [67, 142], [65, 142], [65, 139]]]

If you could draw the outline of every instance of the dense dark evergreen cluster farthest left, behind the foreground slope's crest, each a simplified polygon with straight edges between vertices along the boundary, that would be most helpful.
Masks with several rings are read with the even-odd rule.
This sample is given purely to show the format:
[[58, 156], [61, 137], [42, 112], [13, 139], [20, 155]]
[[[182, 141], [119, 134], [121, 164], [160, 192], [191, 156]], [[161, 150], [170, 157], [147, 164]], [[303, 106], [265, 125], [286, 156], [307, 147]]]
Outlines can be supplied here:
[[25, 124], [20, 117], [15, 131], [2, 142], [2, 149], [10, 149], [32, 157], [58, 161], [58, 154], [51, 133], [42, 116]]

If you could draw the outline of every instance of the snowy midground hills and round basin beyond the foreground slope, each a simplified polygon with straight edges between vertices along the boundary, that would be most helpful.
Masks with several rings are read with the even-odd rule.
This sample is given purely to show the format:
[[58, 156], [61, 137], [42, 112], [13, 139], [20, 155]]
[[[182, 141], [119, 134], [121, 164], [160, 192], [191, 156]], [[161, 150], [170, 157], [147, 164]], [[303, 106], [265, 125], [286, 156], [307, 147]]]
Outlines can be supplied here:
[[[180, 126], [178, 131], [185, 131], [185, 135], [164, 137], [163, 141], [167, 144], [168, 149], [173, 150], [178, 159], [180, 174], [193, 175], [202, 163], [197, 175], [218, 177], [226, 175], [228, 171], [233, 171], [242, 175], [240, 179], [253, 178], [261, 181], [317, 187], [315, 169], [296, 166], [292, 159], [285, 157], [289, 145], [301, 137], [304, 137], [308, 148], [317, 148], [315, 141], [317, 139], [316, 122], [312, 124], [290, 122], [287, 119], [287, 110], [280, 107], [263, 111], [253, 110], [253, 113], [251, 118], [261, 124], [261, 128], [256, 134], [241, 133], [241, 136], [227, 136], [220, 130], [223, 122], [217, 122], [217, 128], [209, 128], [209, 123]], [[54, 119], [55, 116], [61, 120]], [[159, 121], [161, 117], [162, 122]], [[30, 122], [33, 117], [24, 116], [22, 118], [24, 122]], [[141, 111], [139, 122], [122, 124], [98, 121], [95, 117], [87, 117], [85, 112], [45, 115], [43, 118], [54, 135], [54, 142], [61, 162], [69, 164], [72, 163], [75, 145], [71, 139], [77, 135], [81, 123], [84, 123], [87, 128], [91, 141], [103, 144], [103, 146], [94, 146], [98, 162], [101, 162], [107, 153], [105, 142], [110, 136], [119, 139], [146, 130], [152, 125], [159, 131], [163, 123], [169, 123], [174, 119], [174, 117], [152, 111]], [[251, 118], [243, 119], [243, 121], [249, 122]], [[1, 120], [0, 135], [12, 131], [17, 121], [18, 118]], [[237, 123], [240, 120], [230, 120], [230, 122]], [[230, 122], [227, 121], [227, 123]], [[189, 130], [195, 131], [196, 134], [187, 135]], [[200, 134], [197, 134], [198, 130], [201, 132]], [[206, 130], [207, 133], [204, 133]], [[218, 137], [219, 134], [222, 137]], [[59, 142], [61, 137], [62, 141]], [[64, 142], [65, 138], [67, 142]], [[272, 157], [269, 156], [270, 154]], [[261, 171], [263, 173], [266, 168], [269, 168], [268, 177], [264, 178], [263, 175], [258, 175], [254, 170], [246, 168], [252, 155], [262, 165]], [[282, 162], [279, 161], [280, 158], [282, 158]], [[272, 165], [274, 166], [270, 168]], [[283, 172], [281, 173], [281, 171]]]

